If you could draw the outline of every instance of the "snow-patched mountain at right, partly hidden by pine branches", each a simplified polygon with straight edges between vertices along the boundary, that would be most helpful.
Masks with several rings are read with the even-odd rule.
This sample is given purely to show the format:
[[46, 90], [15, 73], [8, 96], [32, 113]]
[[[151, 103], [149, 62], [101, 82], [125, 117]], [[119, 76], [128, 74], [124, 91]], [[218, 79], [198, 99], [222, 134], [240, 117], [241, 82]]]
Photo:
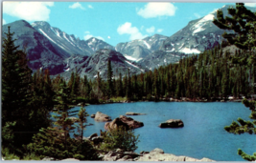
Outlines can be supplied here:
[[[235, 6], [232, 5], [225, 5], [221, 8], [224, 16], [230, 16], [227, 11], [230, 7], [235, 8]], [[256, 11], [255, 8], [247, 9]], [[197, 20], [189, 22], [185, 28], [167, 38], [160, 47], [160, 50], [192, 54], [200, 53], [221, 44], [223, 39], [221, 34], [224, 31], [213, 24], [213, 19], [216, 17], [217, 11], [213, 11]]]

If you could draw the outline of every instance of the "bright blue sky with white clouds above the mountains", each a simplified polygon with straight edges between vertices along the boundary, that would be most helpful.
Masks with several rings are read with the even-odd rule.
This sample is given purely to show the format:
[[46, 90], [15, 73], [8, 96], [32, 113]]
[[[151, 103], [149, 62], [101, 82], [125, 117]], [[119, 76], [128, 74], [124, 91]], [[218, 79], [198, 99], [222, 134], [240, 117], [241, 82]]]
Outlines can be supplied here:
[[[3, 3], [3, 24], [47, 21], [80, 39], [91, 36], [116, 46], [155, 33], [171, 36], [189, 21], [230, 3], [11, 2]], [[234, 3], [232, 4], [234, 5]], [[246, 4], [256, 7], [255, 4]]]

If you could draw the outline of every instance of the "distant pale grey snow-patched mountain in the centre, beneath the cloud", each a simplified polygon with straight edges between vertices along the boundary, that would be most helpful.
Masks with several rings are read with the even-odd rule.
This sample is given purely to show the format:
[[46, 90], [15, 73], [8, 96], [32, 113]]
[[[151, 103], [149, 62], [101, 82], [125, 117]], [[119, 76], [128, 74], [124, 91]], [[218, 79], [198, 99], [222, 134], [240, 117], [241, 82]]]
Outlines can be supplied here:
[[137, 39], [126, 43], [119, 43], [116, 51], [124, 54], [129, 60], [139, 61], [153, 51], [157, 51], [167, 36], [154, 34], [144, 39]]

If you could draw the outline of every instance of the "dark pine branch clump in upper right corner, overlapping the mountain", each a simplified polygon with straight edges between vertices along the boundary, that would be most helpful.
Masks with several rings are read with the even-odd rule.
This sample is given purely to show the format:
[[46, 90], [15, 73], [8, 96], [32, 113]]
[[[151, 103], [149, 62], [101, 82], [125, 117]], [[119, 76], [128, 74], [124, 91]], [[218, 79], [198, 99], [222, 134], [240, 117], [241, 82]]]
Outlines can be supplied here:
[[223, 37], [231, 45], [236, 45], [240, 49], [250, 50], [256, 45], [255, 24], [256, 14], [244, 7], [243, 3], [237, 3], [236, 9], [229, 8], [228, 13], [232, 17], [223, 18], [222, 10], [217, 11], [217, 19], [213, 23], [223, 30], [235, 31], [234, 33], [224, 33]]

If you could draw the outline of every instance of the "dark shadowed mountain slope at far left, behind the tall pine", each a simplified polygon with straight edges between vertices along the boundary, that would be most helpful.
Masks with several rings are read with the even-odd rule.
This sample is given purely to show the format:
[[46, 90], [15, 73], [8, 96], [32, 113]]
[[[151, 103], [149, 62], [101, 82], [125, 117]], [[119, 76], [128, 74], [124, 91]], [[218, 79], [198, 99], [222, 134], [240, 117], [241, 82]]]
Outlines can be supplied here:
[[[64, 58], [68, 54], [60, 53], [55, 49], [52, 43], [40, 32], [26, 21], [19, 20], [13, 23], [4, 25], [2, 32], [8, 32], [8, 26], [11, 27], [11, 32], [14, 32], [12, 38], [16, 39], [14, 44], [20, 46], [19, 50], [27, 51], [29, 58], [29, 67], [33, 70], [49, 69], [51, 74], [57, 74], [63, 71]], [[3, 34], [3, 37], [6, 35]]]

